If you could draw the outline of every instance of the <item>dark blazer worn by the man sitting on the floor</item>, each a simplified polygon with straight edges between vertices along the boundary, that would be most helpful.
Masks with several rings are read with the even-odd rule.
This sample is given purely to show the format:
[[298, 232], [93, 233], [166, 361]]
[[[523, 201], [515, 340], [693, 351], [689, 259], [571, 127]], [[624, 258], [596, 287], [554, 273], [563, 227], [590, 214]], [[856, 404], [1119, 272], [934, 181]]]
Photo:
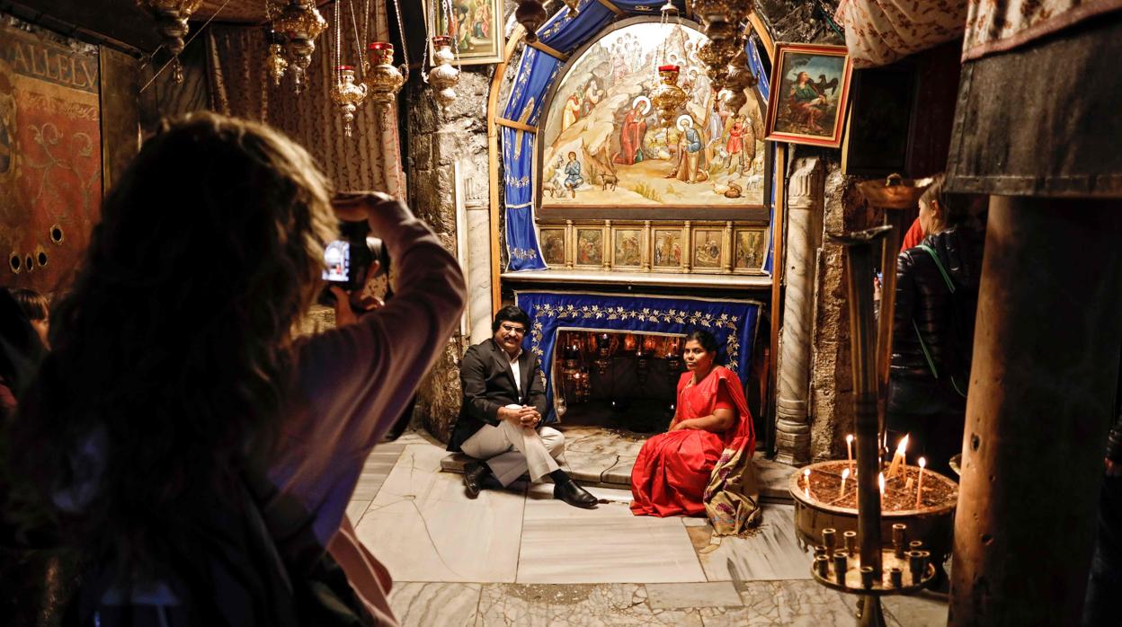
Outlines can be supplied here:
[[[523, 350], [518, 356], [522, 395], [514, 385], [514, 371], [506, 352], [488, 339], [468, 349], [460, 362], [463, 405], [448, 441], [449, 451], [459, 451], [463, 442], [484, 425], [498, 426], [498, 409], [505, 405], [530, 405], [545, 417], [545, 381], [537, 356]], [[539, 424], [541, 426], [541, 424]]]

